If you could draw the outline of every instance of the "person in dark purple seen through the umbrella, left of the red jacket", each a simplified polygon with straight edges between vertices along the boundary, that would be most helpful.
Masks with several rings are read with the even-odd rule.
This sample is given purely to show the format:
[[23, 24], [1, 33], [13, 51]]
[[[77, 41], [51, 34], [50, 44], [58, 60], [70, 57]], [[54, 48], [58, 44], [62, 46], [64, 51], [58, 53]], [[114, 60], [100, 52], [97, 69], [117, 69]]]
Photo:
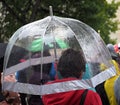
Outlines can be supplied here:
[[[50, 56], [48, 50], [43, 51], [43, 57]], [[32, 54], [32, 58], [41, 57], [41, 52], [35, 52]], [[41, 78], [41, 66], [42, 66], [42, 78]], [[33, 74], [29, 79], [30, 84], [42, 85], [51, 80], [50, 70], [52, 63], [39, 64], [33, 66]], [[30, 95], [28, 99], [28, 105], [43, 105], [40, 95]]]

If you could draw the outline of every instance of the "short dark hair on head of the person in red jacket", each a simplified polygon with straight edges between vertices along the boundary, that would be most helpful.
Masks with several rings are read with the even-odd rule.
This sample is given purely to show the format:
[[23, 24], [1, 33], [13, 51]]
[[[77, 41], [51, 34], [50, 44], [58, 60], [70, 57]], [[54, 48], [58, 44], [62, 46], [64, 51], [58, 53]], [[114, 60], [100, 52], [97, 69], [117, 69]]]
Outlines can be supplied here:
[[67, 49], [59, 59], [57, 70], [63, 78], [80, 77], [80, 73], [85, 71], [85, 58], [83, 52]]

